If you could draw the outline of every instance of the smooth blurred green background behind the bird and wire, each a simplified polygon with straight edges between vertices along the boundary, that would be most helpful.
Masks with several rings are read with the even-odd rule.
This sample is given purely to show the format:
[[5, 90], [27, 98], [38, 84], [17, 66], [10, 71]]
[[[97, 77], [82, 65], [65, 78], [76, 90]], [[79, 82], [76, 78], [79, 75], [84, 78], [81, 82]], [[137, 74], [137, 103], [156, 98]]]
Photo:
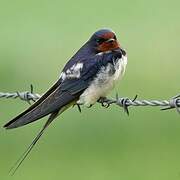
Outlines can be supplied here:
[[[0, 91], [43, 93], [91, 34], [112, 28], [128, 52], [125, 77], [110, 96], [168, 99], [179, 93], [180, 1], [50, 1], [0, 3]], [[0, 125], [29, 105], [0, 100]], [[180, 116], [158, 108], [99, 104], [59, 117], [15, 176], [8, 170], [46, 118], [0, 132], [0, 179], [180, 179]]]

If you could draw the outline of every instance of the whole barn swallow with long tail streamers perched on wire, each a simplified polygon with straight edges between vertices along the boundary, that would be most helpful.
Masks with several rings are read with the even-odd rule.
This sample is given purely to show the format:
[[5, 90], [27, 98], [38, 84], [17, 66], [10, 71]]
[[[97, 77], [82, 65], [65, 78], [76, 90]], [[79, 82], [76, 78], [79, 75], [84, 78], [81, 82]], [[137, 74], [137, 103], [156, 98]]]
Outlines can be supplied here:
[[95, 32], [63, 68], [58, 81], [32, 106], [4, 125], [13, 129], [49, 115], [45, 125], [17, 161], [16, 168], [37, 143], [50, 123], [73, 105], [95, 104], [113, 89], [126, 68], [127, 56], [110, 29]]

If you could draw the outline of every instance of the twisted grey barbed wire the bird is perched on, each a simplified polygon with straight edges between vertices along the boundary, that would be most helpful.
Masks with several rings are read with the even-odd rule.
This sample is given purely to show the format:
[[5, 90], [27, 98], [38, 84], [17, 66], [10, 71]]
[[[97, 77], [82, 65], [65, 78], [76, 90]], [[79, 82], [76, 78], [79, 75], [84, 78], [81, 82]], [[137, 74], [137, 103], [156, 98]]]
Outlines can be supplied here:
[[[13, 93], [4, 93], [0, 92], [0, 98], [19, 98], [20, 100], [26, 101], [31, 104], [31, 101], [36, 101], [41, 97], [40, 94], [33, 92], [33, 86], [31, 85], [30, 91], [23, 92], [13, 92]], [[118, 97], [116, 98], [101, 98], [99, 101], [103, 107], [108, 108], [111, 104], [116, 104], [119, 107], [124, 108], [124, 111], [129, 114], [129, 106], [152, 106], [152, 107], [161, 107], [161, 110], [176, 109], [180, 114], [180, 94], [176, 95], [169, 100], [138, 100], [137, 95], [135, 98], [130, 99], [127, 97]]]

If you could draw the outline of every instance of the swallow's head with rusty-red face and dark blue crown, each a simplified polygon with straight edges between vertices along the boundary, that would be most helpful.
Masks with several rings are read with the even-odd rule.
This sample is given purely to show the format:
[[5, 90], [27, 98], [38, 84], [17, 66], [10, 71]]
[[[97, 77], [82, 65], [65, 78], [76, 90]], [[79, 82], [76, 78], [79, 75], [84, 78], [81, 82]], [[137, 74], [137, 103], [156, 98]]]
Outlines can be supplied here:
[[90, 38], [90, 42], [98, 53], [120, 48], [115, 33], [110, 29], [96, 31]]

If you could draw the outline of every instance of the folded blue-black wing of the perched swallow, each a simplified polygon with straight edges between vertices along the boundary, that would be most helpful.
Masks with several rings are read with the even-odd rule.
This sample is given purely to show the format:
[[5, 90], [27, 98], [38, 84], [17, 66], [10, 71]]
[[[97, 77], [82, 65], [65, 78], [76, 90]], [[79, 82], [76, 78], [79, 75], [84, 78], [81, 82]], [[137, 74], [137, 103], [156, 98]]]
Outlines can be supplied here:
[[[121, 52], [104, 53], [95, 55], [87, 59], [80, 59], [75, 63], [82, 63], [80, 76], [78, 78], [59, 79], [57, 83], [47, 91], [37, 102], [22, 112], [20, 115], [4, 125], [5, 128], [17, 128], [34, 122], [48, 114], [59, 111], [63, 106], [78, 100], [79, 96], [89, 86], [102, 66], [113, 63], [120, 58]], [[74, 65], [73, 61], [71, 66]], [[63, 71], [67, 71], [71, 66], [65, 66]]]

